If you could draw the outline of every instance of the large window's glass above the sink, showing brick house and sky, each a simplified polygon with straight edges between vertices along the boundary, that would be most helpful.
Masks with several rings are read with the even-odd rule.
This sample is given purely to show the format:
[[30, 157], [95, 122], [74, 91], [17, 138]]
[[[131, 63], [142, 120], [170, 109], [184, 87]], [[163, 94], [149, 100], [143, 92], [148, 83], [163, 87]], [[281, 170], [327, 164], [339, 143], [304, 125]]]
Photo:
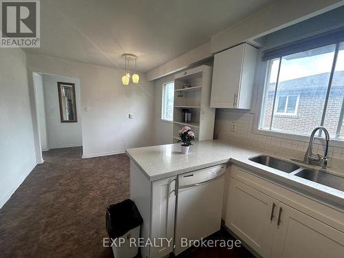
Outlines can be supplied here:
[[344, 43], [330, 83], [335, 50], [327, 45], [268, 61], [260, 129], [310, 135], [323, 125], [344, 140]]

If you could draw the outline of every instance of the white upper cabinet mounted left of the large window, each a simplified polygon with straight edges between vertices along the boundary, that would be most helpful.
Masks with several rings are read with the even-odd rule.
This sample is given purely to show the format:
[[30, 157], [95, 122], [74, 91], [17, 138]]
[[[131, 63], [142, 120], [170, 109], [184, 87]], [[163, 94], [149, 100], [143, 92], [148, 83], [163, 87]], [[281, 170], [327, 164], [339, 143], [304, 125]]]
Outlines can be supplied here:
[[257, 54], [246, 43], [215, 54], [211, 107], [250, 109]]

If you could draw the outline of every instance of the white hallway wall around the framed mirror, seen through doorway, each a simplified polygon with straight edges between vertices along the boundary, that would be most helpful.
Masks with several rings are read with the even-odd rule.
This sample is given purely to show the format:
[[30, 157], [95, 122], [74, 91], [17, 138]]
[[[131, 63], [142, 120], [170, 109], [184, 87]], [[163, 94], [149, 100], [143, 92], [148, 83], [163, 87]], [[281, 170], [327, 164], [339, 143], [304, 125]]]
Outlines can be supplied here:
[[[43, 74], [45, 96], [45, 116], [47, 125], [48, 149], [76, 147], [83, 144], [81, 133], [80, 80], [65, 76]], [[61, 122], [58, 103], [57, 83], [74, 83], [77, 122]]]

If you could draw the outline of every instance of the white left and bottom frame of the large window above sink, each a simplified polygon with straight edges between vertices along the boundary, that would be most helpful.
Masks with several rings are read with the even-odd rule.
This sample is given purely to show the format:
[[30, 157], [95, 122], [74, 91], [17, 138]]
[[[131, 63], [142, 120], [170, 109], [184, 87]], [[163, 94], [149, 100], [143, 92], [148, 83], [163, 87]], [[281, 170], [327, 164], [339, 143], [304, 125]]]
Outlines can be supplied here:
[[[337, 43], [339, 44], [339, 43]], [[259, 50], [259, 56], [262, 56], [264, 49]], [[255, 133], [260, 136], [268, 136], [268, 137], [275, 137], [281, 138], [286, 140], [295, 140], [295, 141], [302, 141], [308, 142], [310, 140], [310, 136], [305, 136], [304, 134], [299, 133], [288, 133], [283, 131], [271, 131], [268, 129], [262, 129], [261, 123], [264, 120], [265, 114], [265, 105], [264, 105], [264, 98], [266, 96], [266, 83], [267, 78], [270, 76], [270, 65], [269, 61], [258, 61], [257, 68], [256, 68], [256, 75], [255, 75], [255, 82], [257, 83], [258, 87], [254, 90], [254, 94], [256, 94], [257, 98], [255, 98], [253, 107], [250, 111], [251, 114], [255, 114], [255, 121], [253, 124], [252, 133]], [[315, 138], [324, 139], [323, 137], [315, 136]], [[344, 147], [344, 140], [338, 138], [331, 138], [330, 142], [331, 147]]]

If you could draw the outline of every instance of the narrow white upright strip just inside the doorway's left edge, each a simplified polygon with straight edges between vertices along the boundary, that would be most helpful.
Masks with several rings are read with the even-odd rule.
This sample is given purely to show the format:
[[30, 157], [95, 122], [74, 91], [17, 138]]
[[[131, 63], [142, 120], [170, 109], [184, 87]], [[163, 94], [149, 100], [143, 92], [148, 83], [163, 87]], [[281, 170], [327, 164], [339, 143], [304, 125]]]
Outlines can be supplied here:
[[43, 151], [49, 149], [47, 142], [47, 125], [45, 121], [45, 101], [43, 77], [41, 74], [33, 74], [34, 79], [34, 96], [36, 99], [37, 122], [39, 124], [39, 138], [41, 140], [41, 148]]

